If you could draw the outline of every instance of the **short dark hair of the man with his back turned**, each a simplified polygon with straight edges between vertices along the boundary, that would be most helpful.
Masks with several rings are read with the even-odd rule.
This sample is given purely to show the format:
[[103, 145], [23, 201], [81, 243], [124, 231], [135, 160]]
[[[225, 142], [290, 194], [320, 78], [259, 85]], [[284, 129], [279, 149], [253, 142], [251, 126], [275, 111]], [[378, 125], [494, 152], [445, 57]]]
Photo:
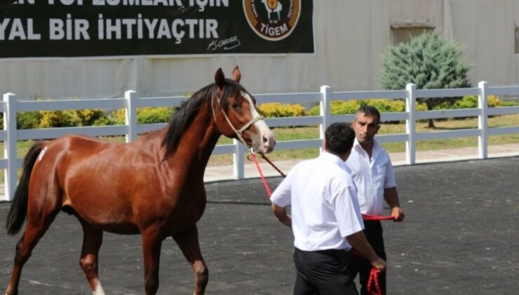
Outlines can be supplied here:
[[334, 123], [325, 131], [326, 150], [335, 155], [344, 155], [353, 147], [355, 131], [346, 123]]

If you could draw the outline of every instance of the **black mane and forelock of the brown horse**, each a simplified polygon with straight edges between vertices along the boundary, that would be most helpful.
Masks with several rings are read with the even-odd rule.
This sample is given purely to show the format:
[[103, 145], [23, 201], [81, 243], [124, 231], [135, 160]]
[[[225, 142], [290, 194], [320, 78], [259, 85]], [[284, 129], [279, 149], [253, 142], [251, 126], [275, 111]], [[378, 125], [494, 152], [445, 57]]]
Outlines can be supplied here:
[[[196, 117], [196, 114], [203, 105], [211, 103], [213, 96], [216, 96], [216, 87], [216, 84], [213, 83], [196, 91], [191, 98], [182, 103], [180, 108], [173, 112], [168, 126], [168, 131], [162, 140], [162, 145], [166, 145], [164, 159], [177, 150], [182, 134], [187, 127], [189, 127], [191, 122], [193, 122], [194, 117]], [[240, 84], [236, 83], [234, 80], [225, 79], [222, 91], [222, 100], [220, 100], [220, 105], [222, 105], [223, 110], [227, 110], [227, 98], [229, 98], [231, 94], [236, 94], [240, 91], [245, 91]], [[215, 108], [220, 107], [217, 102], [217, 97], [215, 97], [214, 103]], [[211, 112], [210, 115], [213, 116], [213, 113]]]

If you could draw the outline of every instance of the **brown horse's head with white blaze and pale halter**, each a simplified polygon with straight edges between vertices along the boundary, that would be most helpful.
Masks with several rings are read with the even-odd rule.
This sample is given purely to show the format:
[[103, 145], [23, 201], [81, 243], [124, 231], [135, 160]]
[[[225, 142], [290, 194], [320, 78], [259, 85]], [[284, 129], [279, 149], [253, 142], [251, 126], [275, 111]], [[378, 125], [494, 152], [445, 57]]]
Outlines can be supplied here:
[[238, 67], [234, 68], [233, 79], [226, 79], [221, 68], [216, 71], [216, 91], [211, 103], [217, 129], [255, 152], [271, 152], [276, 145], [274, 134], [257, 112], [254, 97], [239, 84], [240, 79]]

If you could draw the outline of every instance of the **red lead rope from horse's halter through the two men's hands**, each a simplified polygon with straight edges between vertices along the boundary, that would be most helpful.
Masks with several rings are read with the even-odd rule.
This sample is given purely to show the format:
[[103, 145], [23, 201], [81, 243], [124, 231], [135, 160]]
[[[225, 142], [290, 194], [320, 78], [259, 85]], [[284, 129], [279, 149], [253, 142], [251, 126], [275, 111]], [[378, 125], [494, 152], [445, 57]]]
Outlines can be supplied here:
[[[256, 164], [257, 171], [260, 173], [260, 176], [262, 178], [263, 186], [265, 187], [265, 190], [267, 190], [267, 195], [270, 197], [272, 195], [272, 192], [269, 188], [269, 183], [267, 183], [267, 179], [265, 179], [265, 176], [263, 175], [262, 169], [260, 168], [260, 163], [257, 162], [257, 157], [254, 152], [250, 153], [250, 157], [252, 158], [252, 162]], [[274, 163], [272, 163], [265, 155], [262, 155], [262, 158], [265, 159], [265, 161], [269, 162], [276, 171], [278, 171], [281, 176], [285, 177], [285, 174], [281, 172]], [[364, 221], [391, 221], [395, 220], [393, 216], [378, 216], [378, 215], [370, 215], [370, 214], [362, 214], [362, 218]], [[358, 251], [355, 249], [351, 249], [351, 252], [353, 254], [356, 254], [357, 256], [362, 256]], [[379, 271], [376, 268], [371, 269], [370, 278], [368, 279], [368, 292], [370, 292], [371, 295], [382, 295], [382, 288], [379, 284]]]

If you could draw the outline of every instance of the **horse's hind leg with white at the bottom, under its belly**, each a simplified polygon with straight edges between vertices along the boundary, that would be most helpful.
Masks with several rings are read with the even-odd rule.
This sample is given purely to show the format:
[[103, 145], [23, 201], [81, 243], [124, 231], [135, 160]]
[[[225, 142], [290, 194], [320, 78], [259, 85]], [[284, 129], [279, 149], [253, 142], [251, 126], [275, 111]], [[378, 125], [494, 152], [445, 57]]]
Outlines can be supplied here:
[[102, 243], [102, 230], [94, 228], [86, 221], [80, 220], [83, 227], [83, 248], [79, 265], [86, 275], [86, 280], [90, 284], [90, 289], [94, 295], [105, 295], [101, 282], [97, 277], [97, 258]]

